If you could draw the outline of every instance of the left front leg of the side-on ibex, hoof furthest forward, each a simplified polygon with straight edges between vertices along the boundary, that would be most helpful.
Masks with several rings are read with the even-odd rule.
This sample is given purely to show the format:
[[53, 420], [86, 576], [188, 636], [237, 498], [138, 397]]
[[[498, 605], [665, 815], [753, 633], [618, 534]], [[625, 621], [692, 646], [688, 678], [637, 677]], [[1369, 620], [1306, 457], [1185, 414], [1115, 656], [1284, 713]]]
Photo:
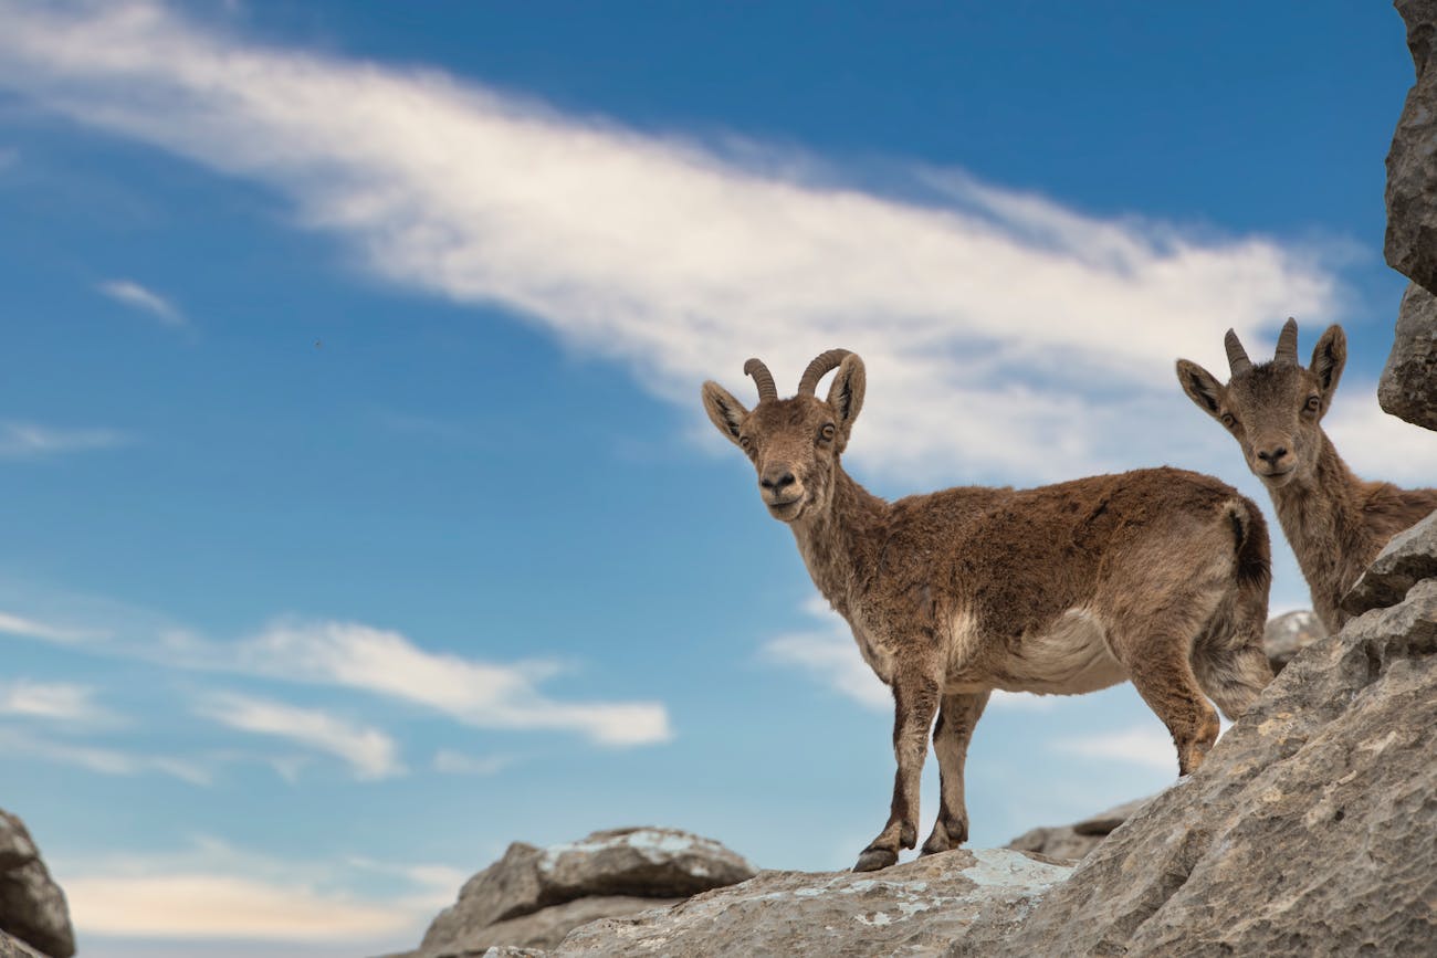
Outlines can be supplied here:
[[888, 824], [858, 856], [855, 872], [874, 872], [898, 863], [898, 850], [918, 843], [918, 784], [928, 755], [928, 728], [938, 711], [940, 679], [928, 671], [894, 676], [894, 803]]

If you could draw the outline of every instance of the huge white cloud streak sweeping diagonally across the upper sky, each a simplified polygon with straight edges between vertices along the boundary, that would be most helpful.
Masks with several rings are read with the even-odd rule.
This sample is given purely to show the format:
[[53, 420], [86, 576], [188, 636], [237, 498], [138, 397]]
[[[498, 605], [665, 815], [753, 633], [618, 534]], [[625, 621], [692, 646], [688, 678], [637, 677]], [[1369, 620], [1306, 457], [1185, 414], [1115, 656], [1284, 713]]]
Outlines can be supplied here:
[[1318, 253], [1272, 238], [1081, 215], [956, 171], [914, 169], [927, 203], [895, 201], [803, 172], [812, 158], [267, 46], [158, 3], [0, 10], [0, 88], [264, 184], [365, 269], [500, 304], [696, 422], [697, 382], [737, 385], [749, 355], [792, 382], [821, 349], [859, 350], [855, 451], [892, 474], [1163, 458], [1200, 429], [1173, 415], [1174, 356], [1341, 299]]

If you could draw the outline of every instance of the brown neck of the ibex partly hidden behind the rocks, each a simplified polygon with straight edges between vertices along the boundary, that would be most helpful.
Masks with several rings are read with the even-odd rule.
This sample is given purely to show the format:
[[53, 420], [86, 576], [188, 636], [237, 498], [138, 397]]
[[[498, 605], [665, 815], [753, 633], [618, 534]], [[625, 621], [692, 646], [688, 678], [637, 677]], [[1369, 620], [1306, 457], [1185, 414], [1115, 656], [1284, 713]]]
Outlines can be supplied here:
[[1336, 631], [1348, 618], [1338, 603], [1374, 550], [1362, 508], [1365, 484], [1342, 461], [1326, 432], [1319, 435], [1322, 445], [1312, 475], [1269, 491], [1315, 610], [1328, 629]]

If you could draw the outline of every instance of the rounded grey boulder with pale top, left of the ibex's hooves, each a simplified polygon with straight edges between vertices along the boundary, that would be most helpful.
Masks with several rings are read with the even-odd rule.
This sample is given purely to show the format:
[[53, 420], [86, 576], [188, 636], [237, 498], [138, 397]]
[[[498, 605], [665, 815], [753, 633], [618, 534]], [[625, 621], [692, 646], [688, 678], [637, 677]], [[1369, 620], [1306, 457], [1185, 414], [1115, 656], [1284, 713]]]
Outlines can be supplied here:
[[491, 945], [543, 948], [605, 915], [671, 905], [752, 878], [713, 839], [674, 829], [615, 829], [539, 849], [514, 842], [440, 912], [415, 958], [480, 954]]

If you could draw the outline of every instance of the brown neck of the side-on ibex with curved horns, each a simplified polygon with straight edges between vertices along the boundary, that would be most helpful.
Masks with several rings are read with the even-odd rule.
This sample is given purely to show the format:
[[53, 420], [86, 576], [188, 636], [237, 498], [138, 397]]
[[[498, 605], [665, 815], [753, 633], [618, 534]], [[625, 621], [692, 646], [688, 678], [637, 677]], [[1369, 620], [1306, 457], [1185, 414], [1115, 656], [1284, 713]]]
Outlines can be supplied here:
[[888, 516], [888, 503], [855, 483], [841, 464], [833, 467], [833, 494], [828, 508], [793, 523], [793, 537], [823, 597], [848, 616], [855, 585], [874, 567], [877, 533]]

